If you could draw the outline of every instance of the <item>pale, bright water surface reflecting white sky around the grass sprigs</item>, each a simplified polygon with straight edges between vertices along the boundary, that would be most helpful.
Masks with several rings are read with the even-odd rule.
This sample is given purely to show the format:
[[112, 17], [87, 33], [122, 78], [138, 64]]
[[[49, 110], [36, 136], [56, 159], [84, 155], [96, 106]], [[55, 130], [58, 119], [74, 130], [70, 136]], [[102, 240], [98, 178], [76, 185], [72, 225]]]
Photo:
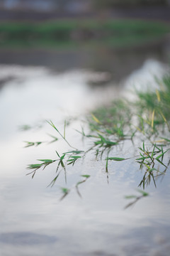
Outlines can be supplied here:
[[[67, 167], [67, 184], [63, 175], [51, 188], [47, 186], [55, 177], [55, 164], [38, 170], [33, 179], [26, 176], [26, 166], [36, 159], [56, 159], [55, 150], [62, 154], [69, 146], [59, 139], [23, 148], [26, 141], [46, 142], [48, 134], [59, 137], [45, 120], [51, 119], [63, 131], [64, 119], [70, 117], [66, 129], [70, 144], [78, 149], [90, 146], [75, 130], [82, 125], [88, 129], [84, 114], [103, 102], [130, 95], [134, 84], [153, 85], [153, 75], [166, 72], [166, 61], [146, 58], [119, 81], [108, 79], [111, 70], [69, 67], [57, 71], [49, 66], [12, 64], [2, 61], [0, 66], [0, 254], [168, 256], [169, 170], [157, 180], [157, 188], [153, 183], [146, 188], [148, 197], [125, 210], [129, 203], [125, 196], [138, 193], [143, 176], [132, 159], [109, 164], [106, 175], [104, 161], [95, 161], [88, 154], [79, 164]], [[21, 131], [25, 124], [33, 129]], [[125, 144], [115, 154], [127, 157], [135, 155], [135, 150], [132, 144]], [[90, 178], [81, 184], [80, 198], [74, 185], [82, 174]], [[60, 201], [63, 186], [71, 192]]]

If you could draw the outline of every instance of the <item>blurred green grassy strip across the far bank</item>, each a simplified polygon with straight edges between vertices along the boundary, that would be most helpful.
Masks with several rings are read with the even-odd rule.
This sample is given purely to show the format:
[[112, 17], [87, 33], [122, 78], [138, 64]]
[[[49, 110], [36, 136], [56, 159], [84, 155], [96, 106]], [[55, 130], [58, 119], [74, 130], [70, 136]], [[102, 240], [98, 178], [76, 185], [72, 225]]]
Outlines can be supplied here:
[[43, 23], [1, 23], [0, 46], [22, 48], [76, 48], [106, 44], [134, 46], [157, 40], [169, 26], [138, 20], [66, 20]]

